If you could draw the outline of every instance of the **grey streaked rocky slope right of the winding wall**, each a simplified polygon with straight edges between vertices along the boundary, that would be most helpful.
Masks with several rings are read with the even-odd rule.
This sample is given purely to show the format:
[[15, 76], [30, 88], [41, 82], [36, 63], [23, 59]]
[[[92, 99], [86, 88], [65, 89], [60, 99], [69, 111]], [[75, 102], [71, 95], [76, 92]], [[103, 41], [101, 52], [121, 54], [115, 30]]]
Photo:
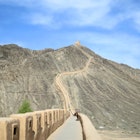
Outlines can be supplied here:
[[139, 129], [139, 73], [81, 49], [93, 57], [87, 71], [63, 78], [71, 99], [78, 98], [77, 108], [97, 129]]

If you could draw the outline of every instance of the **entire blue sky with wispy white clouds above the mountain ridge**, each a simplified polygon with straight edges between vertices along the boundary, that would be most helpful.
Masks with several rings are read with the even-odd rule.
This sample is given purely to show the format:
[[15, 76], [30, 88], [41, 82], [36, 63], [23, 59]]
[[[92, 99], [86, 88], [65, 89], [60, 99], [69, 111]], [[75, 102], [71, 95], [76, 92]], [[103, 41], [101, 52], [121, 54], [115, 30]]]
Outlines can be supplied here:
[[0, 0], [0, 44], [58, 49], [80, 41], [140, 69], [140, 0]]

